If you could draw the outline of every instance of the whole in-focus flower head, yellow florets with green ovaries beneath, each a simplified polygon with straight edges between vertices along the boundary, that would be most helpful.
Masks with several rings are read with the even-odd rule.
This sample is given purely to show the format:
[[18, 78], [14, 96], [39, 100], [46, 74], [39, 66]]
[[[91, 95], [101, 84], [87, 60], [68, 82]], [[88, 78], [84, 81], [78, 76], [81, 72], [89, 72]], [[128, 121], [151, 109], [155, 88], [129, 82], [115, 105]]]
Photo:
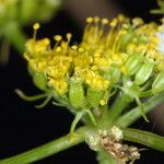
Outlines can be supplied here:
[[66, 39], [55, 35], [52, 48], [48, 38], [36, 39], [38, 28], [34, 24], [24, 57], [42, 91], [74, 110], [92, 110], [120, 90], [136, 99], [147, 119], [140, 98], [164, 90], [163, 25], [124, 15], [110, 22], [87, 17], [79, 45], [71, 43], [68, 33]]

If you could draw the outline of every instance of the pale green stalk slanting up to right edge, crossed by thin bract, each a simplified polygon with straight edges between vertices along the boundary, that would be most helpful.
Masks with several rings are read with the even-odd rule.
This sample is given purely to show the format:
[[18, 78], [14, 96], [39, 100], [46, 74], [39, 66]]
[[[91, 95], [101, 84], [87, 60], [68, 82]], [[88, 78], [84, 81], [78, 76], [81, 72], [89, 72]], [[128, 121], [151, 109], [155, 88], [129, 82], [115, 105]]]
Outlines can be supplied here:
[[[143, 103], [142, 105], [143, 105], [144, 112], [149, 113], [150, 110], [152, 110], [154, 107], [156, 107], [163, 102], [164, 102], [164, 93], [153, 96], [152, 98], [150, 98], [147, 103]], [[140, 107], [136, 107], [131, 109], [129, 113], [121, 116], [116, 121], [116, 125], [121, 126], [121, 127], [128, 127], [132, 122], [134, 122], [137, 119], [139, 119], [141, 116], [142, 115], [140, 112]]]

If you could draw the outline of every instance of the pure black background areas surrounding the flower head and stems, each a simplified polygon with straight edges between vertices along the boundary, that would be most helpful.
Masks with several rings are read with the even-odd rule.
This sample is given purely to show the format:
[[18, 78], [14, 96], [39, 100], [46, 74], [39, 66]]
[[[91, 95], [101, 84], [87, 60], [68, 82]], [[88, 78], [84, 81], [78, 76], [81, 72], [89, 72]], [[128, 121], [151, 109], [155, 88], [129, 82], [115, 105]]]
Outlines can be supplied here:
[[[145, 21], [159, 20], [150, 15], [149, 10], [157, 8], [153, 0], [117, 0], [117, 3], [130, 16], [142, 16]], [[24, 28], [32, 36], [32, 28]], [[58, 12], [51, 22], [43, 24], [38, 37], [55, 34], [73, 34], [74, 40], [80, 40], [82, 28], [78, 21], [67, 10]], [[21, 89], [28, 95], [39, 93], [34, 86], [26, 70], [26, 62], [11, 48], [9, 63], [0, 66], [0, 159], [15, 155], [43, 143], [57, 139], [69, 132], [73, 116], [63, 108], [52, 106], [50, 103], [42, 109], [36, 109], [36, 103], [21, 99], [14, 89]], [[132, 127], [152, 130], [153, 125], [140, 119]], [[159, 131], [154, 132], [159, 133]], [[144, 148], [144, 147], [140, 147]], [[154, 150], [143, 151], [139, 164], [162, 164], [164, 154]], [[80, 144], [50, 157], [36, 162], [36, 164], [96, 164], [95, 153], [85, 144]]]

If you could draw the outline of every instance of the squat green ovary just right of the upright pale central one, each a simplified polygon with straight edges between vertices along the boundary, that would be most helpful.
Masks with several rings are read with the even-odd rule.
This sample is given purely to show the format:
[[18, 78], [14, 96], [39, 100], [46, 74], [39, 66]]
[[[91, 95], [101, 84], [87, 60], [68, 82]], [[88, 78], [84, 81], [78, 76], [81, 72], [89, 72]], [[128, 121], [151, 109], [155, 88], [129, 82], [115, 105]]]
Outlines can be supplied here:
[[91, 107], [97, 107], [104, 94], [104, 91], [95, 91], [94, 89], [89, 86], [86, 92], [86, 99], [90, 103]]

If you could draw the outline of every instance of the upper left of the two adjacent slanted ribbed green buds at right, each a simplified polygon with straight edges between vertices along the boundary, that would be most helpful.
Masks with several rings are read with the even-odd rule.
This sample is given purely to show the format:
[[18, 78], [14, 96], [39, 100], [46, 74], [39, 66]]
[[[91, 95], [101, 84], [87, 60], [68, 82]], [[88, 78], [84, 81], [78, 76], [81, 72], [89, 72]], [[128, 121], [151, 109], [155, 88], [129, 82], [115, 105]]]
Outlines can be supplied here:
[[134, 74], [142, 65], [142, 58], [139, 54], [132, 55], [126, 62], [126, 70], [129, 75]]

